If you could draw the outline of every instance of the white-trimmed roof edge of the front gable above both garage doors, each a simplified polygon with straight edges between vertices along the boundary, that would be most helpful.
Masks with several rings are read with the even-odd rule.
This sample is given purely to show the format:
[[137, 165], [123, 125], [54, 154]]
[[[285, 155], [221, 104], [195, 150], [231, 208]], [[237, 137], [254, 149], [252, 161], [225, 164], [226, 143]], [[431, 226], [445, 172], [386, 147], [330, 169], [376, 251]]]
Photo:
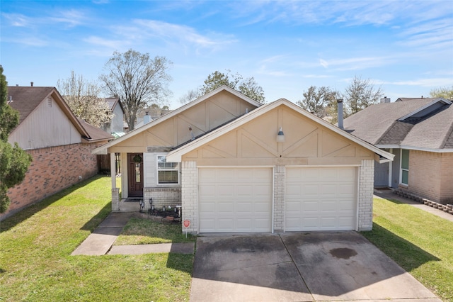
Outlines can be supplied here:
[[309, 118], [311, 121], [314, 121], [315, 123], [319, 123], [319, 124], [323, 125], [324, 127], [328, 128], [329, 130], [332, 130], [333, 132], [337, 133], [338, 135], [341, 135], [344, 138], [347, 138], [348, 140], [351, 140], [352, 142], [355, 142], [362, 147], [365, 147], [366, 149], [376, 153], [380, 157], [384, 157], [387, 160], [393, 160], [393, 158], [394, 158], [394, 155], [390, 154], [389, 152], [385, 152], [384, 150], [381, 150], [378, 147], [375, 147], [374, 145], [371, 145], [368, 142], [361, 140], [360, 138], [356, 138], [354, 135], [350, 135], [346, 131], [341, 130], [340, 128], [336, 127], [335, 125], [332, 125], [331, 123], [328, 123], [328, 122], [324, 121], [323, 119], [318, 118], [317, 116], [314, 116], [314, 114], [311, 114], [311, 113], [305, 111], [304, 109], [297, 106], [296, 104], [293, 104], [292, 102], [288, 101], [287, 99], [279, 99], [277, 101], [274, 101], [273, 103], [260, 106], [259, 108], [256, 108], [255, 110], [253, 110], [249, 113], [246, 113], [245, 115], [237, 118], [236, 120], [231, 121], [231, 123], [228, 123], [220, 128], [217, 128], [216, 130], [213, 130], [212, 132], [207, 133], [206, 135], [203, 135], [201, 138], [198, 138], [197, 140], [193, 140], [192, 142], [189, 142], [187, 145], [183, 145], [182, 147], [171, 151], [167, 155], [167, 161], [168, 162], [180, 162], [181, 157], [184, 154], [186, 154], [190, 151], [193, 151], [193, 150], [197, 149], [198, 147], [201, 147], [202, 145], [205, 145], [207, 142], [210, 142], [211, 140], [219, 138], [221, 135], [224, 135], [225, 133], [228, 133], [231, 130], [239, 128], [241, 125], [244, 125], [245, 123], [252, 121], [254, 118], [257, 118], [258, 116], [261, 116], [264, 113], [267, 113], [281, 105], [292, 108], [294, 111], [297, 111], [302, 116]]

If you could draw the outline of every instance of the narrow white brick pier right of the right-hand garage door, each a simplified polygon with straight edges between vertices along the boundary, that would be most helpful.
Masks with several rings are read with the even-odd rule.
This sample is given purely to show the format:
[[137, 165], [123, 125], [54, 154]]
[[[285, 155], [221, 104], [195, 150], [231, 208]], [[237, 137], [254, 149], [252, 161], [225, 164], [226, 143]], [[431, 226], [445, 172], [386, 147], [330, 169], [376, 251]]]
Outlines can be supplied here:
[[359, 168], [359, 217], [358, 230], [373, 228], [374, 161], [362, 160]]

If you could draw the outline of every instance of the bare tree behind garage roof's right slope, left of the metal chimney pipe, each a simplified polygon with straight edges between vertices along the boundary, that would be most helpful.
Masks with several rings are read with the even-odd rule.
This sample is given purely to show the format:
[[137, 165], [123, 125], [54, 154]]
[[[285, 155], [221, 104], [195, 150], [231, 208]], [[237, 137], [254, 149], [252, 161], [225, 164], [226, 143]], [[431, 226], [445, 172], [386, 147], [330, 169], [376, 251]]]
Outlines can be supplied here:
[[319, 118], [323, 118], [328, 115], [328, 104], [336, 99], [337, 94], [338, 92], [330, 87], [321, 86], [317, 88], [316, 86], [310, 86], [303, 93], [304, 99], [298, 101], [297, 104], [306, 111], [314, 113]]

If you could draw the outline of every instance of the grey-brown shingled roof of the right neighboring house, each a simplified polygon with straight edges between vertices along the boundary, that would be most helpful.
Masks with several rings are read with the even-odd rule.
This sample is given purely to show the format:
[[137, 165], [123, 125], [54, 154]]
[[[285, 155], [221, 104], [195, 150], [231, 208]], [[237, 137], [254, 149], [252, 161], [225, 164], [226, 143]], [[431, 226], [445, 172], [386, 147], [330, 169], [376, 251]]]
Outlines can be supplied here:
[[344, 127], [377, 147], [453, 152], [453, 106], [442, 98], [375, 104], [346, 118]]

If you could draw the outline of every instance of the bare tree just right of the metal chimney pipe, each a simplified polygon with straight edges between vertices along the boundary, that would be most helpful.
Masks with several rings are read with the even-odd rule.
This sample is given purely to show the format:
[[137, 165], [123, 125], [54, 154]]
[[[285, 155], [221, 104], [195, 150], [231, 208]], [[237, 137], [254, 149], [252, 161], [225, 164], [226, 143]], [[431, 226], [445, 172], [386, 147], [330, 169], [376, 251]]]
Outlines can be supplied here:
[[355, 76], [351, 84], [345, 89], [345, 105], [347, 106], [348, 116], [372, 104], [377, 104], [383, 95], [381, 87], [374, 88], [370, 79]]

